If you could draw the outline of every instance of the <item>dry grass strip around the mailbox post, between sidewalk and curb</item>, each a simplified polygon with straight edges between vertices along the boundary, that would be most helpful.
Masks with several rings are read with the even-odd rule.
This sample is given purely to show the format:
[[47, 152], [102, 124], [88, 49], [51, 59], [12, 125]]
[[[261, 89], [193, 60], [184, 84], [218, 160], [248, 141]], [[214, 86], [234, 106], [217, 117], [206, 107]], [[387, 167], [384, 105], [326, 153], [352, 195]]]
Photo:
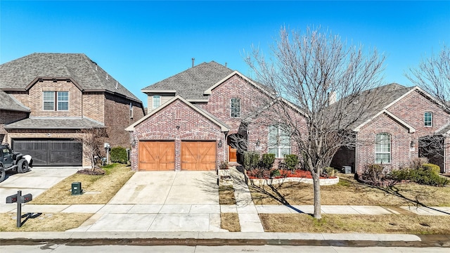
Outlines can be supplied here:
[[[23, 225], [17, 228], [15, 213], [0, 214], [1, 232], [34, 232], [34, 231], [66, 231], [72, 228], [78, 228], [92, 214], [39, 214], [30, 219], [23, 215]], [[26, 220], [26, 221], [25, 221]], [[25, 221], [25, 223], [24, 223]]]

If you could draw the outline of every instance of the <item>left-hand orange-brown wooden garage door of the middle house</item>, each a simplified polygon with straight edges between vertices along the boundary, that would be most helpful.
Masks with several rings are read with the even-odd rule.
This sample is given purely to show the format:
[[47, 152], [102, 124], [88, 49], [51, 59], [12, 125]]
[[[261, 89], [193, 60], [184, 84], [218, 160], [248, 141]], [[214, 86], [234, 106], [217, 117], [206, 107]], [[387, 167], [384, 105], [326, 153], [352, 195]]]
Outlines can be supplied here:
[[139, 170], [175, 169], [174, 141], [139, 141]]

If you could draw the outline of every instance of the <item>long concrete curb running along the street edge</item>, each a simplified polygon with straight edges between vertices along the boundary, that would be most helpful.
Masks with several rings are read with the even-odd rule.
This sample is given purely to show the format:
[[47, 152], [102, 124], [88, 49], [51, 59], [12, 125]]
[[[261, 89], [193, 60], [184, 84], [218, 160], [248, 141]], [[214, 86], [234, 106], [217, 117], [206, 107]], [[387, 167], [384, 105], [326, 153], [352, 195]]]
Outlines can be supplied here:
[[314, 245], [334, 247], [450, 248], [450, 235], [243, 232], [1, 232], [0, 238], [0, 245]]

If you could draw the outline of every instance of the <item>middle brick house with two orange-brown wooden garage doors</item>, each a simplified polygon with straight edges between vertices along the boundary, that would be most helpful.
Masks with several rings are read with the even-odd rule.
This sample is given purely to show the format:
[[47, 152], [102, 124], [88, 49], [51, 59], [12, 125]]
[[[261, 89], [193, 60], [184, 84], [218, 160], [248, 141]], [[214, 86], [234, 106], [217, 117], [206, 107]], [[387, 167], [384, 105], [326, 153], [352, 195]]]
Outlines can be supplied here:
[[142, 91], [148, 115], [127, 128], [132, 169], [210, 170], [238, 162], [243, 150], [276, 157], [295, 151], [279, 122], [261, 112], [271, 90], [214, 61]]

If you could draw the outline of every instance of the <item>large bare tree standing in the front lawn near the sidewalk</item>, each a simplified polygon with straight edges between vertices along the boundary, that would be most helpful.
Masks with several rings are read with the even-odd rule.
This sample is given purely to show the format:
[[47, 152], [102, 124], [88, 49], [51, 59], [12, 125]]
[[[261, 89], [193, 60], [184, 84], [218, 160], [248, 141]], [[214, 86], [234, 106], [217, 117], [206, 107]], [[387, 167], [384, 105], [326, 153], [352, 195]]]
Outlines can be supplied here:
[[[258, 82], [276, 91], [273, 110], [300, 150], [314, 181], [314, 218], [321, 219], [319, 176], [343, 146], [354, 146], [352, 127], [377, 103], [385, 56], [347, 46], [338, 35], [282, 27], [271, 58], [252, 48], [245, 57]], [[380, 97], [380, 96], [378, 96]], [[290, 105], [290, 106], [288, 106]], [[302, 121], [292, 113], [300, 108]]]

